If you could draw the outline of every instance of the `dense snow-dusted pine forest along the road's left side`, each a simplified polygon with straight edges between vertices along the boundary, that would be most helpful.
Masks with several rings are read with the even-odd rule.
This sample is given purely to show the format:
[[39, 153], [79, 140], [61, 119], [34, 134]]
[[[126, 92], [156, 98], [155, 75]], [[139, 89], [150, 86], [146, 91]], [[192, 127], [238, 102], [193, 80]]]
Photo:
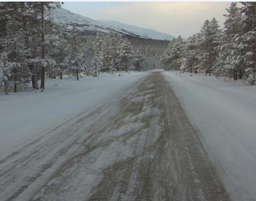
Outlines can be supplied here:
[[[84, 37], [79, 28], [54, 23], [58, 2], [0, 2], [0, 88], [44, 91], [45, 77], [79, 80], [81, 74], [143, 70], [144, 57], [117, 33]], [[40, 81], [40, 84], [38, 82]]]

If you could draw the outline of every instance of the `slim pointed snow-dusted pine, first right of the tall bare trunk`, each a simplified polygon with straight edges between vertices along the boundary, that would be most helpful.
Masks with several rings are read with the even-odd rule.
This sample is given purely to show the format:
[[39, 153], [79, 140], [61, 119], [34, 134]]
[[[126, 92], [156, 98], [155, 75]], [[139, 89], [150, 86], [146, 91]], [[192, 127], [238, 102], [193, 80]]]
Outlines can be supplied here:
[[71, 31], [66, 52], [68, 55], [65, 58], [65, 73], [69, 76], [76, 76], [76, 79], [79, 80], [79, 74], [85, 72], [85, 67], [82, 55], [83, 44], [76, 27], [73, 27]]

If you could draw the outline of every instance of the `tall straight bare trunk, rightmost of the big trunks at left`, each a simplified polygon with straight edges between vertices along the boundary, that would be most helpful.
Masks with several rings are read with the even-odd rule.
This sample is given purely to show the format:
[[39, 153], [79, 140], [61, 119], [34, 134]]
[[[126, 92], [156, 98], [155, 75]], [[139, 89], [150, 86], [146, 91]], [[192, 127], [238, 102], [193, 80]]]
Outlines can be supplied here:
[[[41, 41], [41, 56], [42, 59], [45, 58], [45, 25], [44, 25], [44, 4], [45, 2], [41, 2], [41, 35], [42, 35], [42, 41]], [[44, 64], [42, 64], [42, 68], [41, 68], [41, 85], [40, 85], [41, 90], [43, 91], [45, 88], [45, 66]]]

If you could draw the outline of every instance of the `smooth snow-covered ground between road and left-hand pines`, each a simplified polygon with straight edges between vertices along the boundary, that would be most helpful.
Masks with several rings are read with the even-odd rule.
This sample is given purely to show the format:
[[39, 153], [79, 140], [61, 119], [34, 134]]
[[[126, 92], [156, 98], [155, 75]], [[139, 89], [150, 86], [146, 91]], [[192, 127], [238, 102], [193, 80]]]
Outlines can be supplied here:
[[100, 78], [86, 76], [80, 81], [46, 80], [44, 93], [19, 92], [6, 96], [0, 92], [0, 160], [80, 112], [89, 112], [104, 98], [132, 86], [145, 74], [101, 74]]

